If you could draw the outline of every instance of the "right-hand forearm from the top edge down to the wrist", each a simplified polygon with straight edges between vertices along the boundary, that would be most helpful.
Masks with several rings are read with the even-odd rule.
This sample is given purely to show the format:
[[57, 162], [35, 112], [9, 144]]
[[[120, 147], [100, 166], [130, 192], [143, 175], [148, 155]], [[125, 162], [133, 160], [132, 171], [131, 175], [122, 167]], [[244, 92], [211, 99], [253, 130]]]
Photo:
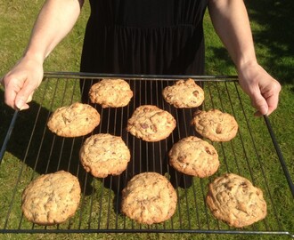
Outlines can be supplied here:
[[208, 0], [210, 18], [235, 66], [256, 63], [256, 55], [243, 0]]

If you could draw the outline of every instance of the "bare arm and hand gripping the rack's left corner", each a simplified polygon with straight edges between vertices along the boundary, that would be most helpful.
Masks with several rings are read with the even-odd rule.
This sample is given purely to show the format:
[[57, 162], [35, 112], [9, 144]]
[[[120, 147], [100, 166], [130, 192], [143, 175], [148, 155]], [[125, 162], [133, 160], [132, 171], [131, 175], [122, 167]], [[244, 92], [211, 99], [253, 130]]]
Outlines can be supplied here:
[[78, 20], [84, 1], [47, 0], [38, 14], [29, 44], [19, 62], [3, 78], [5, 103], [26, 109], [43, 78], [43, 63]]

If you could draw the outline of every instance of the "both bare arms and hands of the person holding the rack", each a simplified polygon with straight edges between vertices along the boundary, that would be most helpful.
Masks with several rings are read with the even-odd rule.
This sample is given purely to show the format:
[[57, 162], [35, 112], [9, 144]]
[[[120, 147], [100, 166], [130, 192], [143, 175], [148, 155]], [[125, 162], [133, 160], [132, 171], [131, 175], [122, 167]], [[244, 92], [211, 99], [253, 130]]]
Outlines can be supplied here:
[[[29, 108], [28, 103], [44, 75], [45, 58], [74, 27], [83, 3], [83, 0], [45, 2], [26, 51], [2, 79], [4, 101], [8, 106]], [[278, 106], [281, 85], [257, 63], [243, 0], [208, 0], [208, 11], [217, 35], [236, 66], [242, 90], [257, 109], [256, 116], [270, 115]]]

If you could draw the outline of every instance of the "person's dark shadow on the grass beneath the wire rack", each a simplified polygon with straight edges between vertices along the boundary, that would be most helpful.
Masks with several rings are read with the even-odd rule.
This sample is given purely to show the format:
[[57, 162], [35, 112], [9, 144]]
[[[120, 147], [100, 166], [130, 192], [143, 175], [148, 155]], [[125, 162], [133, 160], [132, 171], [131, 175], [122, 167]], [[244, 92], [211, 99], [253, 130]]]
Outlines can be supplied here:
[[[152, 82], [151, 84], [156, 83]], [[144, 96], [142, 99], [145, 99]], [[134, 100], [131, 100], [130, 105], [133, 106], [134, 104]], [[4, 92], [1, 91], [0, 106], [2, 108], [1, 112], [4, 113], [3, 118], [5, 121], [0, 128], [0, 140], [3, 142], [12, 120], [13, 110], [4, 105]], [[78, 176], [85, 193], [91, 194], [93, 190], [93, 177], [90, 173], [86, 173], [79, 162], [79, 150], [89, 135], [79, 138], [58, 137], [49, 131], [46, 125], [51, 111], [40, 106], [35, 101], [32, 101], [29, 106], [29, 110], [20, 111], [19, 113], [11, 139], [6, 148], [7, 152], [12, 153], [12, 156], [15, 156], [20, 162], [23, 162], [39, 174], [59, 170], [71, 172], [73, 175]], [[97, 108], [98, 112], [102, 113], [102, 109], [100, 107]], [[172, 111], [172, 115], [176, 116], [176, 108], [173, 108]], [[123, 115], [122, 113], [122, 108], [103, 109], [101, 124], [93, 132], [93, 134], [108, 132], [117, 136], [121, 135], [132, 153], [127, 171], [118, 176], [110, 175], [105, 179], [100, 179], [102, 180], [102, 185], [105, 188], [111, 188], [115, 194], [118, 194], [126, 186], [127, 181], [135, 174], [139, 172], [160, 172], [170, 175], [170, 180], [174, 187], [190, 187], [192, 185], [191, 176], [185, 176], [180, 172], [176, 172], [173, 168], [167, 167], [167, 150], [172, 146], [172, 139], [169, 138], [167, 142], [162, 143], [145, 142], [131, 136], [125, 128], [127, 126], [128, 115]], [[185, 119], [190, 123], [191, 114], [189, 111], [178, 110], [178, 113], [178, 121], [184, 121]], [[115, 117], [112, 118], [112, 116]], [[181, 134], [184, 135], [186, 131], [184, 124], [180, 124], [178, 131], [174, 133], [174, 140], [179, 140]], [[192, 127], [189, 131], [193, 132]]]

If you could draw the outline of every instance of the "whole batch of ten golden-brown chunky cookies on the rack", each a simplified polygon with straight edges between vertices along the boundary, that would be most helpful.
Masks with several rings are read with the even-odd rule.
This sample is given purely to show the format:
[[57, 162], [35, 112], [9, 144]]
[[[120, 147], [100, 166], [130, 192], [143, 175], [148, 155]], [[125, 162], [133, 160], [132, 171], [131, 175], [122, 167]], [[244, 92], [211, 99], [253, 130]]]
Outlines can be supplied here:
[[[175, 108], [197, 108], [204, 100], [202, 88], [192, 79], [177, 80], [163, 89], [162, 96]], [[102, 108], [119, 108], [127, 106], [133, 92], [123, 79], [102, 79], [91, 87], [89, 98]], [[76, 102], [56, 109], [47, 126], [58, 136], [79, 137], [93, 132], [98, 124], [98, 111]], [[192, 117], [192, 126], [211, 141], [229, 141], [238, 132], [234, 117], [217, 109], [197, 111]], [[149, 142], [166, 139], [175, 128], [174, 116], [154, 105], [135, 108], [127, 122], [127, 132]], [[176, 142], [168, 157], [176, 171], [198, 178], [212, 176], [220, 165], [216, 148], [196, 136]], [[86, 172], [105, 178], [124, 172], [131, 154], [120, 136], [98, 133], [85, 140], [79, 158]], [[80, 195], [78, 178], [71, 173], [44, 174], [23, 191], [21, 209], [29, 221], [39, 225], [59, 224], [75, 214]], [[234, 228], [249, 226], [266, 215], [262, 191], [233, 173], [225, 173], [208, 184], [206, 203], [216, 219]], [[150, 225], [168, 220], [176, 212], [176, 205], [176, 189], [157, 172], [135, 175], [122, 190], [121, 212], [139, 223]]]

